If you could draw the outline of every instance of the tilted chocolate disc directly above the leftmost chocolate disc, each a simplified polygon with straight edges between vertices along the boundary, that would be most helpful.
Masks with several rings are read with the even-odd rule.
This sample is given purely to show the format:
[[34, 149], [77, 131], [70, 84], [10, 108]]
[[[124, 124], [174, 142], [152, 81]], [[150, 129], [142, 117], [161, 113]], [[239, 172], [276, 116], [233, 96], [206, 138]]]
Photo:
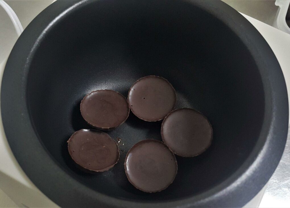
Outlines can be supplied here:
[[81, 101], [81, 115], [88, 124], [99, 130], [112, 130], [129, 116], [126, 98], [113, 90], [97, 90]]

